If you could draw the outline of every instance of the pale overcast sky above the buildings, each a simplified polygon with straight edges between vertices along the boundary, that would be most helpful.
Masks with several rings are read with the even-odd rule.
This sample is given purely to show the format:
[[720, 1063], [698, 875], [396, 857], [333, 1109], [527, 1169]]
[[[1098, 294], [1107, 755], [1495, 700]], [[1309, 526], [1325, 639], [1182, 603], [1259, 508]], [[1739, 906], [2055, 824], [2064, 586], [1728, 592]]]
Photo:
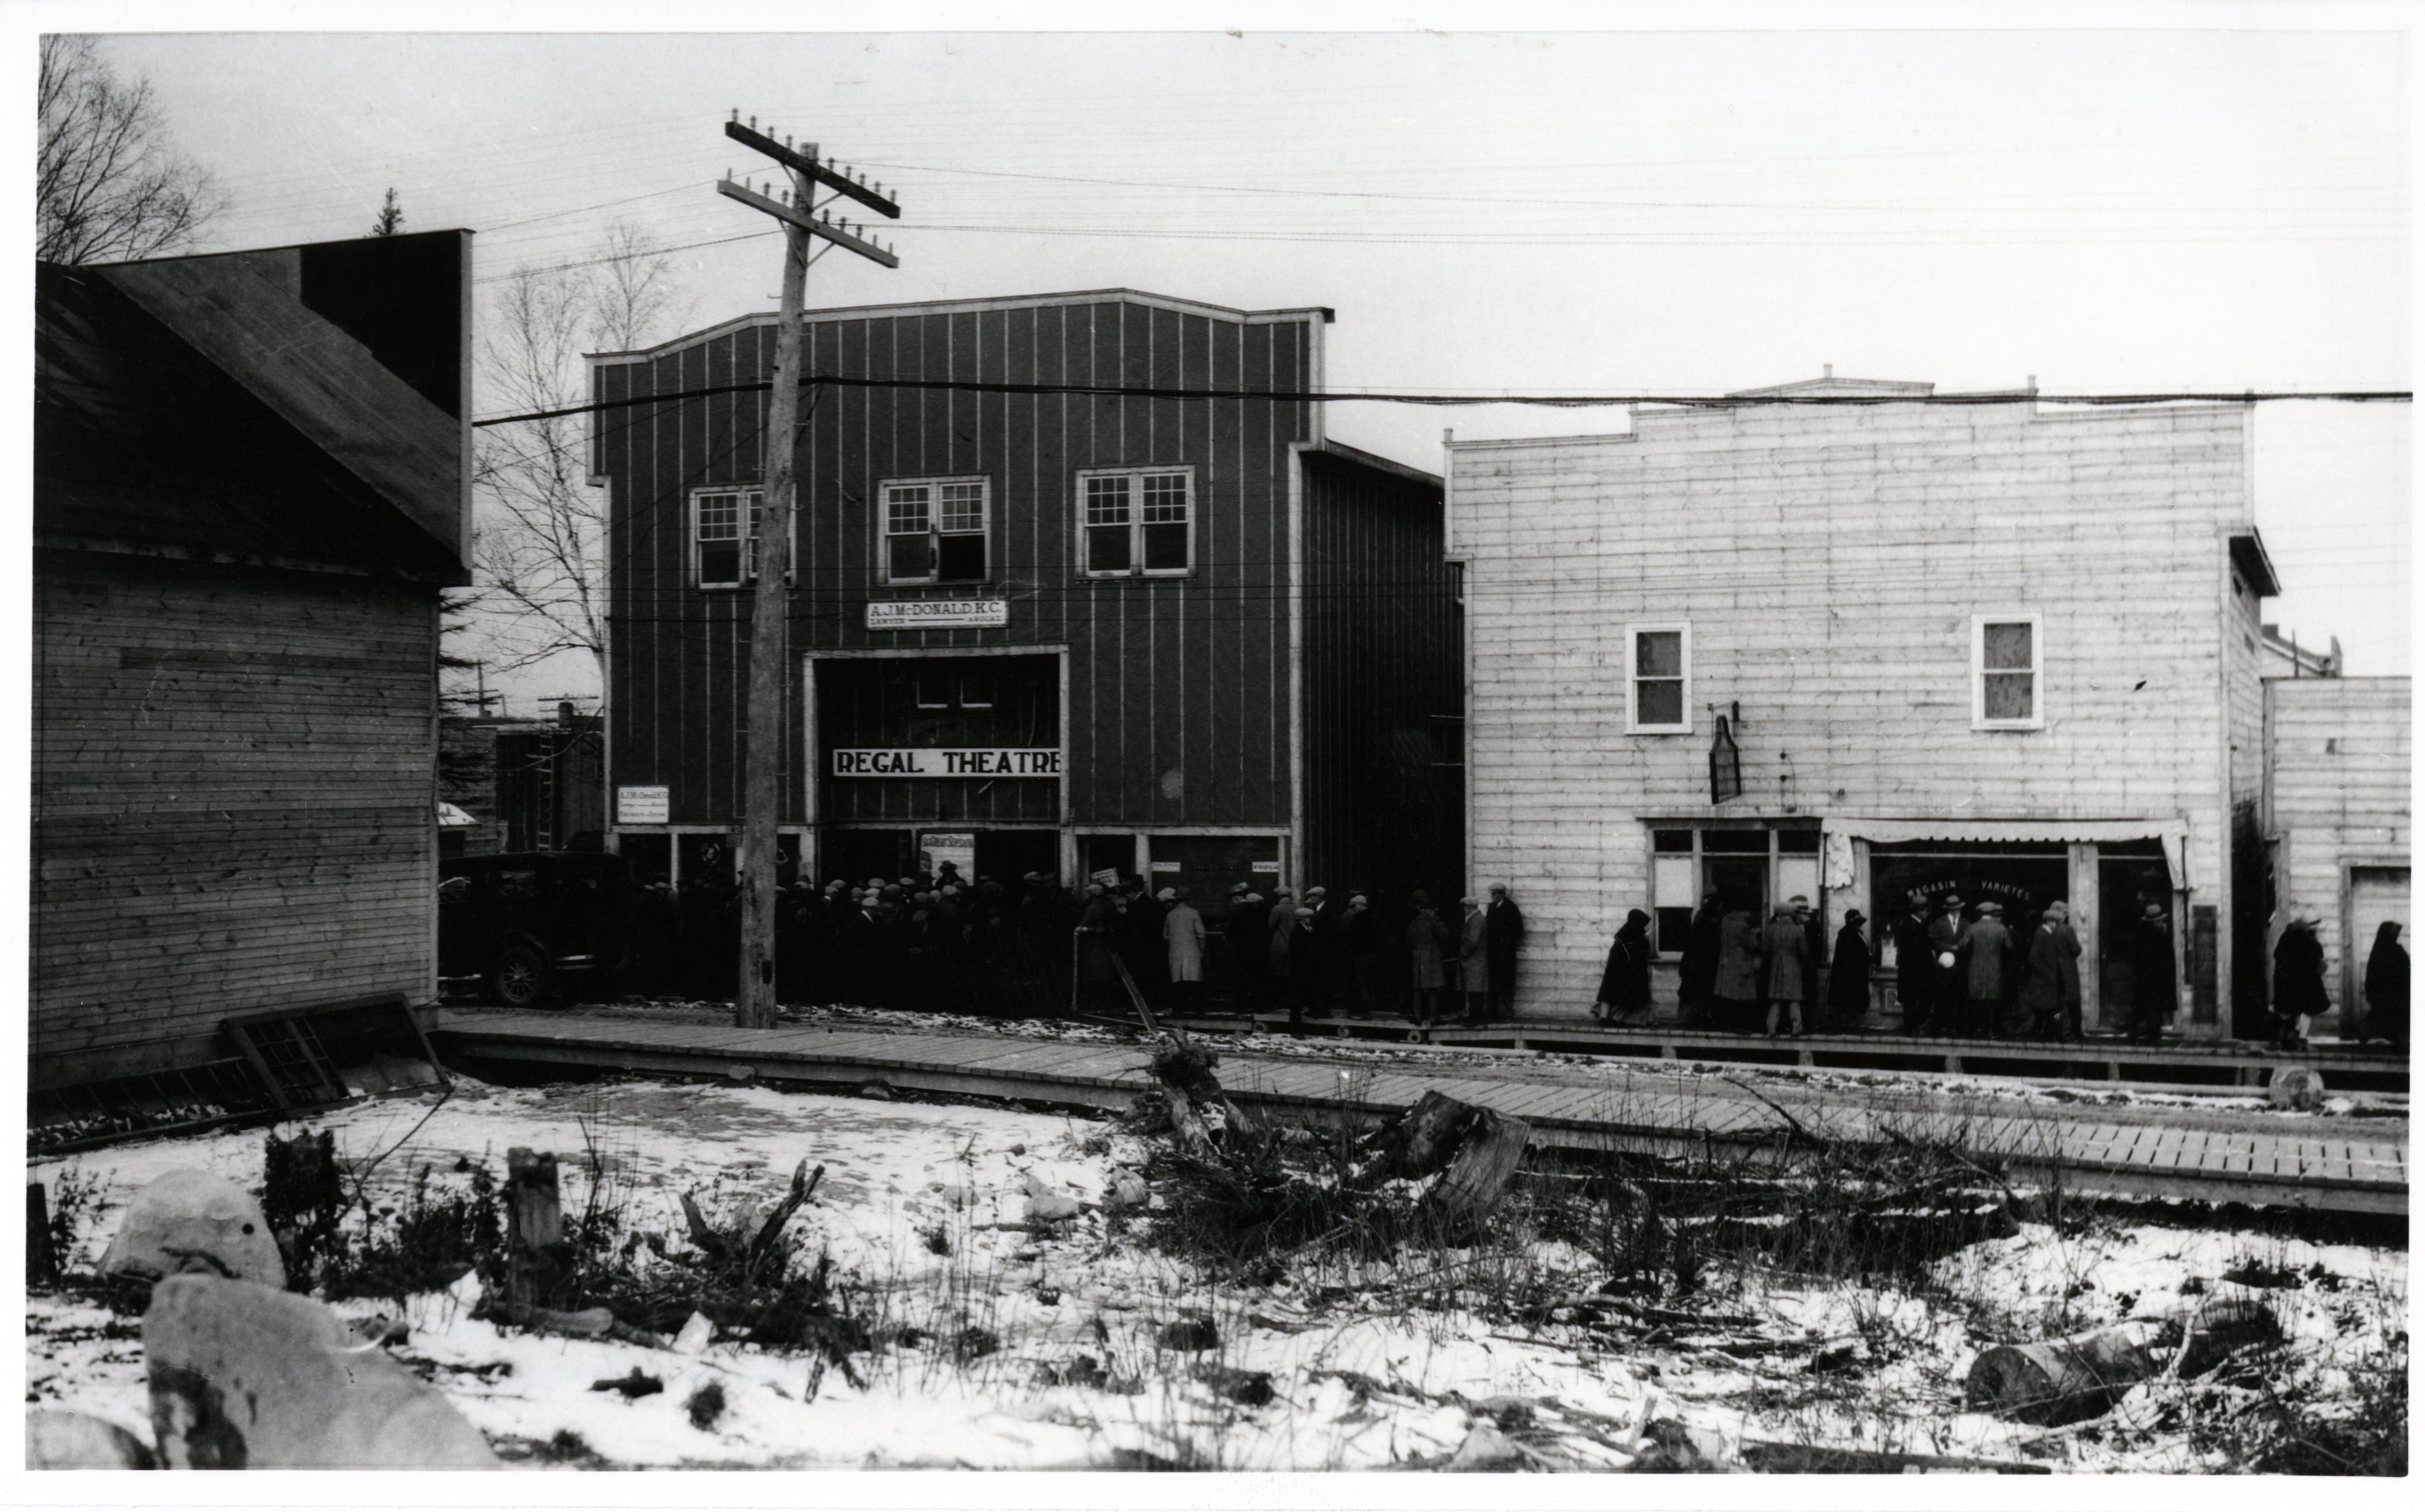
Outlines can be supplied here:
[[[737, 107], [907, 211], [902, 269], [829, 257], [812, 305], [1101, 286], [1331, 305], [1339, 388], [1712, 393], [1821, 363], [2047, 393], [2410, 383], [2408, 44], [2386, 34], [155, 34], [107, 51], [230, 189], [221, 247], [359, 235], [393, 184], [407, 228], [480, 230], [495, 279], [577, 262], [628, 218], [686, 247], [698, 325], [774, 305], [776, 237], [713, 194], [725, 167], [764, 172], [720, 136]], [[1443, 426], [1622, 424], [1331, 412], [1341, 441], [1431, 470]], [[2406, 674], [2410, 409], [2267, 405], [2258, 446], [2287, 582], [2267, 618], [2338, 635], [2357, 674]], [[519, 691], [577, 691], [555, 681]]]

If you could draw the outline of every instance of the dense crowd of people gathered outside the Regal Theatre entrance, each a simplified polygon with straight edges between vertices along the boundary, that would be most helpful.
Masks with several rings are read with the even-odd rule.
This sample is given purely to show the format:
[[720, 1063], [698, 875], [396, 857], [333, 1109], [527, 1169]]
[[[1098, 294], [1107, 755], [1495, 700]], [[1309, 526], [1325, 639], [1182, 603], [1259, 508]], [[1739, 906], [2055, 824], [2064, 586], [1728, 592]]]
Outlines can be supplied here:
[[[1239, 882], [1208, 923], [1191, 889], [1149, 892], [1140, 877], [1086, 882], [1028, 872], [1016, 887], [934, 872], [822, 887], [788, 882], [776, 906], [776, 996], [786, 1003], [866, 1003], [936, 1013], [1128, 1018], [1128, 984], [1149, 1003], [1191, 1008], [1217, 955], [1234, 1010], [1416, 1023], [1506, 1018], [1523, 911], [1506, 887], [1457, 913], [1414, 892], [1399, 906], [1365, 889], [1268, 899]], [[626, 989], [645, 996], [732, 996], [740, 889], [711, 875], [633, 897]], [[1123, 981], [1123, 974], [1128, 981]], [[1074, 986], [1074, 993], [1072, 993]]]

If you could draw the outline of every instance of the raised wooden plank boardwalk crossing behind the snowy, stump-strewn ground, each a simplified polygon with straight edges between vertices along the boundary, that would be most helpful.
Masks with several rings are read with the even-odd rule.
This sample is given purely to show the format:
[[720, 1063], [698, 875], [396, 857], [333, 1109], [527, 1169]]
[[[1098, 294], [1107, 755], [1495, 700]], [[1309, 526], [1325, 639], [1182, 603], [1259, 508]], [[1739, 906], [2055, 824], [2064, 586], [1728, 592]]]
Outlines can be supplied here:
[[[1084, 1107], [1125, 1107], [1149, 1086], [1142, 1047], [1004, 1035], [846, 1025], [735, 1030], [647, 1018], [449, 1010], [439, 1015], [432, 1040], [446, 1059], [837, 1088], [885, 1083]], [[1225, 1052], [1222, 1086], [1242, 1105], [1363, 1117], [1397, 1112], [1426, 1090], [1440, 1090], [1523, 1117], [1542, 1144], [1557, 1149], [1782, 1149], [1799, 1124], [1809, 1134], [1855, 1144], [1959, 1139], [2022, 1173], [2059, 1175], [2071, 1190], [2408, 1212], [2406, 1124], [2367, 1129], [2284, 1117], [2212, 1127], [2216, 1119], [2209, 1115], [2202, 1127], [2197, 1110], [2078, 1110], [1918, 1093], [1853, 1100], [1785, 1086], [1763, 1088], [1775, 1098], [1770, 1102], [1746, 1083], [1625, 1066], [1373, 1066], [1324, 1061], [1319, 1042], [1310, 1042], [1307, 1052]]]

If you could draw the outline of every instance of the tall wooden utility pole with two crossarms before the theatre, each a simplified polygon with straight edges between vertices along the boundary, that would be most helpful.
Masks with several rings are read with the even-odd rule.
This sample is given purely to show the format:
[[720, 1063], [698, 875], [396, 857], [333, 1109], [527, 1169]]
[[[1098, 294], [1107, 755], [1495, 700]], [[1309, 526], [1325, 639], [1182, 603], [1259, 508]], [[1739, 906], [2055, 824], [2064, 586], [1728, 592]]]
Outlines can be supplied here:
[[[817, 160], [815, 143], [788, 143], [740, 124], [740, 111], [725, 121], [725, 136], [774, 158], [791, 187], [769, 196], [735, 184], [730, 177], [715, 191], [764, 211], [783, 223], [783, 315], [774, 337], [774, 397], [766, 405], [766, 494], [749, 523], [757, 545], [757, 603], [749, 618], [749, 727], [742, 744], [742, 957], [732, 998], [732, 1023], [742, 1030], [774, 1027], [774, 913], [776, 913], [776, 821], [783, 807], [783, 642], [791, 628], [791, 536], [793, 536], [793, 453], [800, 443], [800, 305], [808, 298], [808, 237], [849, 247], [871, 262], [900, 267], [900, 257], [849, 233], [849, 220], [834, 223], [817, 213], [817, 187], [851, 196], [883, 216], [900, 218], [900, 206]], [[832, 199], [827, 199], [832, 206]], [[747, 545], [744, 545], [747, 550]], [[815, 763], [815, 754], [808, 756]]]

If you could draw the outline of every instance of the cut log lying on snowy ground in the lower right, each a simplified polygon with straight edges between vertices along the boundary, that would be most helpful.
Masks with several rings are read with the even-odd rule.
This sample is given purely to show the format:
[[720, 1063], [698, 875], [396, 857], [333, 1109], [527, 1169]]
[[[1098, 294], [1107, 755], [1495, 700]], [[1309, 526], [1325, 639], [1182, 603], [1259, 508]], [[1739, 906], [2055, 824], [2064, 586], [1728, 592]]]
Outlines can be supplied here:
[[2214, 1301], [2180, 1318], [1981, 1350], [1972, 1362], [1964, 1401], [1998, 1418], [2049, 1427], [2086, 1422], [2175, 1362], [2180, 1376], [2202, 1376], [2233, 1350], [2280, 1340], [2282, 1325], [2263, 1301]]

